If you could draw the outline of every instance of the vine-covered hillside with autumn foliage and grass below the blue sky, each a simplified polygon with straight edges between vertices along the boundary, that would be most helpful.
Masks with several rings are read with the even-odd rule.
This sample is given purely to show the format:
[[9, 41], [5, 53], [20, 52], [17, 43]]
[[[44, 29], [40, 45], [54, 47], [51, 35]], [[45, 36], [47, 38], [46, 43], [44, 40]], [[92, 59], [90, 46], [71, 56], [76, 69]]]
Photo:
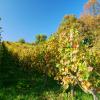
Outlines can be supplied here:
[[66, 15], [47, 40], [0, 42], [0, 100], [99, 100], [99, 19]]

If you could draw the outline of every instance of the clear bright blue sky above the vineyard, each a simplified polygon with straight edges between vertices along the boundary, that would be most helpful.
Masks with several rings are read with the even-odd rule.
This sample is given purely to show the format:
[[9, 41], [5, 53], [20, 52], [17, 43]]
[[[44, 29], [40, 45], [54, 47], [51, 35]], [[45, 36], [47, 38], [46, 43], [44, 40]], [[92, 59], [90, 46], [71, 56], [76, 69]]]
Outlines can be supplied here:
[[27, 42], [35, 40], [39, 33], [56, 32], [67, 14], [79, 16], [87, 0], [0, 0], [0, 17], [3, 40]]

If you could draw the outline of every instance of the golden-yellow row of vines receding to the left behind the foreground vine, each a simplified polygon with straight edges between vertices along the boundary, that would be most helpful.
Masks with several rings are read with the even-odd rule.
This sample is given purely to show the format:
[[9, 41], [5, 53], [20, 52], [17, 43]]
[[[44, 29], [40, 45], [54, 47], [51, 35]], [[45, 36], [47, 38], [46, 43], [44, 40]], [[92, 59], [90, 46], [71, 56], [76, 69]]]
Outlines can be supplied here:
[[34, 68], [40, 73], [45, 73], [49, 76], [55, 75], [57, 46], [54, 40], [36, 46], [5, 42], [4, 46], [8, 49], [8, 52], [11, 52], [15, 60], [19, 62], [19, 65], [25, 69]]

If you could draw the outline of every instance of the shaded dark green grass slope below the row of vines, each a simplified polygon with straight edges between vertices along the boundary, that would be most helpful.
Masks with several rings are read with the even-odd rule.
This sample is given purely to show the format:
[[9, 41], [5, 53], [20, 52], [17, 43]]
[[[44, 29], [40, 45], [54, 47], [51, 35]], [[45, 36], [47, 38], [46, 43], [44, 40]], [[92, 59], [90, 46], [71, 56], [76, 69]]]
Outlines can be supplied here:
[[61, 86], [53, 78], [26, 70], [16, 63], [4, 50], [0, 66], [0, 100], [93, 100], [91, 95], [79, 89], [73, 99], [70, 92], [62, 92]]

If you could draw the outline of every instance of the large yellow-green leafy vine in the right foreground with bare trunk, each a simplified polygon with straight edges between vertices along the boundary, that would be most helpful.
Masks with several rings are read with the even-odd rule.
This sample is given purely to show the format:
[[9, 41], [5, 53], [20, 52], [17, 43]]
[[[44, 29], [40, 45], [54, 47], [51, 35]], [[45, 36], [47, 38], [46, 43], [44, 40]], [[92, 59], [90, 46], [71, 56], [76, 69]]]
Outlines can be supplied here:
[[96, 96], [94, 87], [89, 82], [89, 76], [93, 71], [88, 61], [89, 51], [87, 47], [81, 46], [81, 38], [77, 29], [70, 29], [59, 34], [59, 58], [57, 68], [59, 69], [57, 79], [61, 81], [64, 89], [71, 87], [71, 94], [74, 94], [74, 86], [78, 85], [84, 92]]

